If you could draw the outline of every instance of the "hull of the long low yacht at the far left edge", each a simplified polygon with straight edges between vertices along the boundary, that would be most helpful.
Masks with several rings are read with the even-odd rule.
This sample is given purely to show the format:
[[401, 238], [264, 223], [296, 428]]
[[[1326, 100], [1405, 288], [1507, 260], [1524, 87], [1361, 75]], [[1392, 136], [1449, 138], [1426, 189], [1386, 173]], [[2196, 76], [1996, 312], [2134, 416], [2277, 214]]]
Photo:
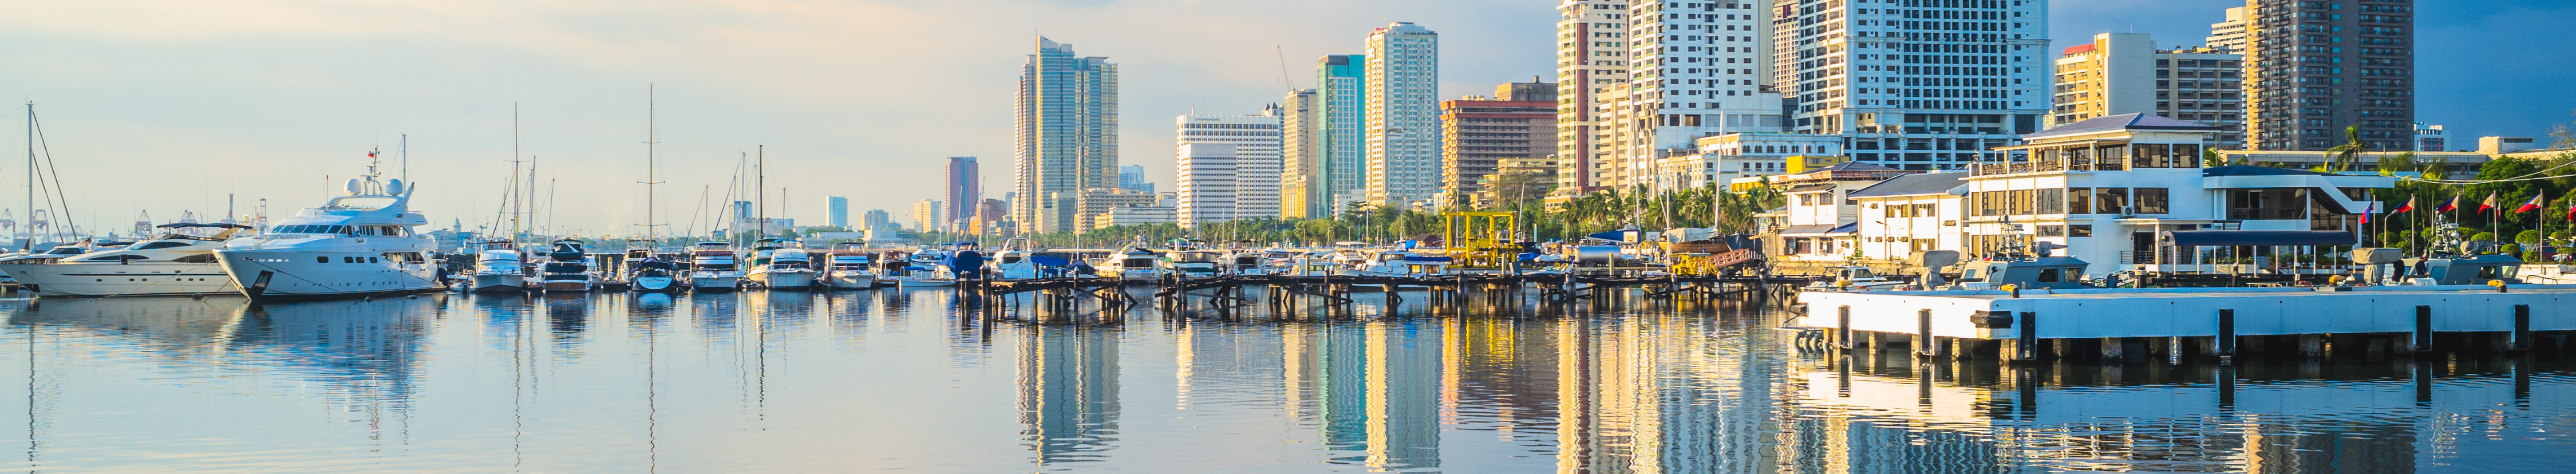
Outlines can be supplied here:
[[126, 265], [8, 265], [36, 296], [183, 296], [240, 294], [219, 263], [126, 263]]

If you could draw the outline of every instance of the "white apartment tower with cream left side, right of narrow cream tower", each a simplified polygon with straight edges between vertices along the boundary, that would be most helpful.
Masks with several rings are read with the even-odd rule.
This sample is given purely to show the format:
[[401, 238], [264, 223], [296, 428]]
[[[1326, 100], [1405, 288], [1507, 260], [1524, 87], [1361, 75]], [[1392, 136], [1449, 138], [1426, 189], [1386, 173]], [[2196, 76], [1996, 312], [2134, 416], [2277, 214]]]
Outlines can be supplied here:
[[1615, 52], [1605, 57], [1623, 57], [1628, 67], [1625, 80], [1605, 82], [1595, 98], [1595, 152], [1577, 170], [1592, 185], [1669, 185], [1677, 178], [1659, 173], [1656, 162], [1698, 155], [1692, 142], [1700, 137], [1783, 129], [1783, 103], [1772, 88], [1770, 0], [1597, 5], [1625, 8], [1613, 13], [1625, 21], [1625, 31], [1618, 31], [1625, 39], [1600, 44]]

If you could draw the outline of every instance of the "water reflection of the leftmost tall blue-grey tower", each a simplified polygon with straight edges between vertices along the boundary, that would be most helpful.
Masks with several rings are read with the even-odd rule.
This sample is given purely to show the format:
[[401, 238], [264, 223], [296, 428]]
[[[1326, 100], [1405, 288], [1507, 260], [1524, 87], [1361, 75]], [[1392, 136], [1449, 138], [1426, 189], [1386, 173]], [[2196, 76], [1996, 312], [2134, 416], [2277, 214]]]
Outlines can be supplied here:
[[1118, 327], [1020, 327], [1020, 438], [1036, 461], [1097, 461], [1118, 441]]

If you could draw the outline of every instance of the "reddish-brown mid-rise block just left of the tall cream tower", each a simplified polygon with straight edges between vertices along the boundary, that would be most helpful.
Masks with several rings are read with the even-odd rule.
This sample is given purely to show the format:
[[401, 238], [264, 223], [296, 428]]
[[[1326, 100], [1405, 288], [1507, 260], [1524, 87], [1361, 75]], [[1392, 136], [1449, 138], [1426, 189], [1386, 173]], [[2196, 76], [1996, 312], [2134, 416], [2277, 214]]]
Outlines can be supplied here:
[[1556, 155], [1556, 82], [1507, 82], [1494, 98], [1440, 103], [1440, 196], [1437, 206], [1476, 206], [1484, 178], [1502, 162], [1546, 160]]

